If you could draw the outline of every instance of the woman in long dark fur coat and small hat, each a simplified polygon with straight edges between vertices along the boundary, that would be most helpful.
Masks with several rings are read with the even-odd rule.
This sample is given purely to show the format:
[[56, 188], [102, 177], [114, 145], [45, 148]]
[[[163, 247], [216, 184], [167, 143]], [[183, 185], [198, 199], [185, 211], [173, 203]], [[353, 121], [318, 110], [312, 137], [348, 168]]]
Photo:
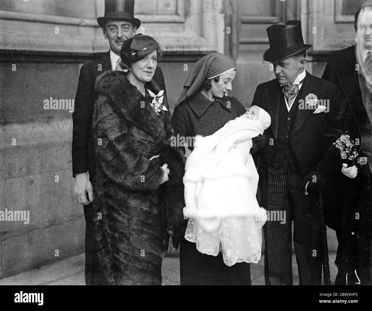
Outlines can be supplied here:
[[183, 221], [185, 157], [171, 147], [167, 100], [152, 80], [158, 50], [152, 37], [134, 36], [121, 49], [128, 73], [107, 71], [96, 81], [93, 208], [102, 284], [160, 285], [162, 252]]

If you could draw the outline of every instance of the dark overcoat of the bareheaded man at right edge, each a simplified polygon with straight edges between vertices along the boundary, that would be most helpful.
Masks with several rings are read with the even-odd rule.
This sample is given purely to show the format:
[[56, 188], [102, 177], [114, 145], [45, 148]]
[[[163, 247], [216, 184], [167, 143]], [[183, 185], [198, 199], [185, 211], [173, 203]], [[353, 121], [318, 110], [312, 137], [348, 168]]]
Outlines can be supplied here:
[[[360, 91], [360, 83], [365, 82], [363, 76], [359, 74], [355, 48], [353, 45], [333, 53], [325, 66], [322, 78], [339, 86], [343, 95], [339, 108], [343, 130], [347, 131], [354, 141], [359, 142], [357, 150], [360, 156], [363, 156], [363, 148], [368, 142], [362, 140], [362, 133], [371, 132], [372, 129]], [[339, 153], [337, 156], [339, 157]], [[334, 175], [337, 205], [329, 217], [329, 223], [336, 230], [339, 241], [335, 262], [339, 268], [336, 284], [346, 284], [346, 274], [349, 274], [349, 279], [352, 278], [353, 282], [357, 282], [355, 269], [358, 270], [361, 284], [369, 284], [371, 189], [362, 174], [358, 174], [355, 179], [344, 176], [341, 173], [341, 164], [337, 173]]]

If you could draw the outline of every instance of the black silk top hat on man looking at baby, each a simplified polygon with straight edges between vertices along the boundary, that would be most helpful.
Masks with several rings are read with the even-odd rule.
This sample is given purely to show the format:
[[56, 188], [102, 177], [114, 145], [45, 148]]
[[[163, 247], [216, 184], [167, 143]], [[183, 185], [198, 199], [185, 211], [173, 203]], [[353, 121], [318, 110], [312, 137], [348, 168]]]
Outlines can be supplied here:
[[312, 46], [304, 44], [299, 20], [274, 24], [268, 27], [266, 32], [270, 48], [263, 54], [263, 59], [267, 62], [278, 62]]

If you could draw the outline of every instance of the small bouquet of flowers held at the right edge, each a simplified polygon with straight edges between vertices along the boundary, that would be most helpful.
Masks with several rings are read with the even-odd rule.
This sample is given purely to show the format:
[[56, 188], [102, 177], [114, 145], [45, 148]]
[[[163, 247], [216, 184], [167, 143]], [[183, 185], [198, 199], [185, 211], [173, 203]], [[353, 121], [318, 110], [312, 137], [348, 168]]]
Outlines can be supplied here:
[[[340, 156], [342, 163], [346, 163], [347, 167], [355, 165], [358, 168], [358, 172], [362, 176], [368, 177], [369, 181], [369, 166], [367, 157], [358, 157], [358, 151], [356, 150], [356, 145], [350, 136], [347, 134], [342, 134], [335, 143], [333, 143], [337, 149], [340, 150]], [[369, 182], [368, 182], [369, 184]]]

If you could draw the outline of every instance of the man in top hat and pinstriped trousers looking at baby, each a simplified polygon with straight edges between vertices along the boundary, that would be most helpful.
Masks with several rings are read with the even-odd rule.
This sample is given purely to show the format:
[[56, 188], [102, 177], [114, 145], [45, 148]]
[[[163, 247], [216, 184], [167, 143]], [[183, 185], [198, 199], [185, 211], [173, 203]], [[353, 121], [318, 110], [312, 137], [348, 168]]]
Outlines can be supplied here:
[[[269, 216], [263, 227], [265, 283], [293, 285], [293, 220], [299, 284], [320, 285], [317, 191], [329, 174], [325, 153], [333, 138], [327, 134], [336, 128], [339, 95], [336, 85], [304, 69], [311, 45], [304, 44], [300, 21], [272, 25], [267, 35], [270, 48], [263, 59], [273, 64], [276, 79], [257, 86], [252, 102], [269, 112], [272, 120], [264, 132], [267, 142], [255, 156], [261, 204]], [[325, 102], [319, 105], [314, 95]]]

